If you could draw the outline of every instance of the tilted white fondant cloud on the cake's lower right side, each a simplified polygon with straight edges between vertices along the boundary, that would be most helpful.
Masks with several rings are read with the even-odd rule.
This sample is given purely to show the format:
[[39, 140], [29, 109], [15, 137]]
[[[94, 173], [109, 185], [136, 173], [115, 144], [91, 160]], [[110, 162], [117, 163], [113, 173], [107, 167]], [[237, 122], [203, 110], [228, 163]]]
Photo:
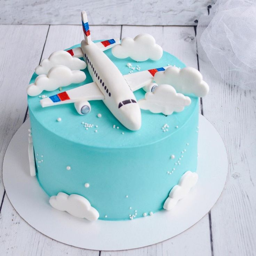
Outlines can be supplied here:
[[197, 173], [186, 171], [179, 180], [179, 184], [175, 185], [171, 189], [169, 197], [165, 200], [163, 208], [166, 210], [173, 209], [178, 200], [183, 199], [189, 193], [190, 189], [197, 183], [197, 180]]

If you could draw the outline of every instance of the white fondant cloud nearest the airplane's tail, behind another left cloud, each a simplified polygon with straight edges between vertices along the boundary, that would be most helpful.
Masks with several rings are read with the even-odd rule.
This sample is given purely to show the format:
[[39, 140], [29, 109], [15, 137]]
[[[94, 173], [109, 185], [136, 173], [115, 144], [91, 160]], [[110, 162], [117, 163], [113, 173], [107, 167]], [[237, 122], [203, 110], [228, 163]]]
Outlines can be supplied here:
[[72, 57], [67, 51], [55, 51], [49, 58], [41, 61], [41, 64], [35, 68], [35, 73], [38, 75], [47, 74], [48, 71], [56, 65], [67, 66], [71, 70], [81, 70], [86, 68], [86, 63], [84, 61]]

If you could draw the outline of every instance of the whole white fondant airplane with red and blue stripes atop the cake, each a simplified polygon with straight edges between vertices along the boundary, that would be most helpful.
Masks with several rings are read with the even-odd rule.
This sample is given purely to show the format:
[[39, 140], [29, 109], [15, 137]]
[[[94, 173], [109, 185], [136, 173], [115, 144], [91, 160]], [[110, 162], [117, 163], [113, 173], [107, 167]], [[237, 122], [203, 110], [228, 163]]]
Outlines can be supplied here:
[[85, 39], [81, 47], [68, 50], [73, 57], [83, 57], [94, 82], [41, 99], [42, 107], [74, 103], [79, 114], [88, 114], [90, 100], [102, 100], [112, 114], [130, 130], [141, 128], [141, 110], [133, 91], [143, 88], [153, 91], [154, 74], [166, 67], [122, 75], [117, 66], [103, 53], [117, 43], [119, 39], [110, 39], [94, 43], [91, 41], [87, 15], [81, 12]]

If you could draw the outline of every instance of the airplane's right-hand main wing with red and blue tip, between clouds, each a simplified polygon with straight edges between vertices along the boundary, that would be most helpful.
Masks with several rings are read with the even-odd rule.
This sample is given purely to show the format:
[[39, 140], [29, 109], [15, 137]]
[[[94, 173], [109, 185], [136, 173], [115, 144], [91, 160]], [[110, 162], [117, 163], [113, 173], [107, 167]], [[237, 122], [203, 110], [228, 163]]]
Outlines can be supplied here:
[[136, 91], [144, 86], [149, 85], [154, 80], [154, 75], [158, 71], [165, 71], [167, 67], [159, 67], [157, 69], [149, 69], [140, 72], [124, 75], [126, 82], [130, 86], [132, 91]]

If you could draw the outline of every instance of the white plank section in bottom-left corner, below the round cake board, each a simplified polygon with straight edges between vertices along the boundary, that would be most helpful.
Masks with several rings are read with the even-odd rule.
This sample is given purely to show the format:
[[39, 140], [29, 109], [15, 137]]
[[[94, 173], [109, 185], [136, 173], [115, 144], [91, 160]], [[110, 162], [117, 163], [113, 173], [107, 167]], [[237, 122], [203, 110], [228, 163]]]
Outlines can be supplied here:
[[99, 255], [98, 251], [65, 245], [33, 229], [16, 213], [7, 197], [5, 197], [2, 209], [4, 211], [0, 215], [0, 255]]

